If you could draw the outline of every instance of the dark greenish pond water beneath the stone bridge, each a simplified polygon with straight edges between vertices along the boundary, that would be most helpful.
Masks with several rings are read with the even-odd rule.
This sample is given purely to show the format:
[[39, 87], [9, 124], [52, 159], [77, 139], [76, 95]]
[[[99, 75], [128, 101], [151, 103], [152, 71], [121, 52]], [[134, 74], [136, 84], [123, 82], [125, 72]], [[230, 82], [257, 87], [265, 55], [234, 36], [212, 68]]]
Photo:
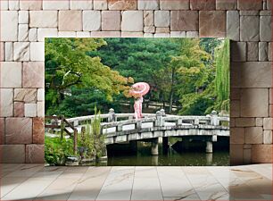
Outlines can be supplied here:
[[[176, 151], [169, 148], [167, 153], [163, 154], [162, 146], [159, 145], [159, 155], [151, 155], [149, 143], [138, 143], [137, 153], [129, 153], [124, 147], [108, 155], [107, 161], [91, 165], [108, 166], [227, 166], [229, 165], [228, 151], [216, 150], [213, 154], [206, 154], [204, 151]], [[112, 151], [112, 150], [111, 150]], [[122, 154], [120, 154], [122, 153]]]

